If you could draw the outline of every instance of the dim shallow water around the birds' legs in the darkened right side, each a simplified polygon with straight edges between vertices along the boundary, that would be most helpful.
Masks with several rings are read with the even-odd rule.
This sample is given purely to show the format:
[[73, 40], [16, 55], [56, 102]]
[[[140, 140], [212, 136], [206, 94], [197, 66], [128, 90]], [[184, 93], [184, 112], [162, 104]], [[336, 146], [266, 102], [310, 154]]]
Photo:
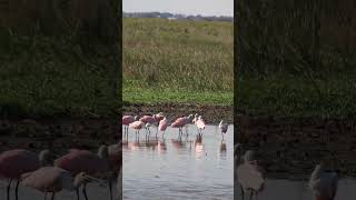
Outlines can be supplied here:
[[[241, 198], [239, 184], [235, 188], [235, 200]], [[245, 194], [245, 199], [249, 199]], [[284, 179], [269, 179], [266, 181], [265, 190], [258, 194], [258, 200], [312, 200], [312, 191], [307, 181], [290, 181]], [[355, 200], [356, 179], [345, 178], [338, 181], [335, 200]]]

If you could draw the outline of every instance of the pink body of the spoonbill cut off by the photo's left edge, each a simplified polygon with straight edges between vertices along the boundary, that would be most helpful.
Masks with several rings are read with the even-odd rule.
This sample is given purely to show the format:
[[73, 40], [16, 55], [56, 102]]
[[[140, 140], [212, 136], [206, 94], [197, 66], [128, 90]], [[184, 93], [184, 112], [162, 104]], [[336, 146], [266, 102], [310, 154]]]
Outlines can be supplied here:
[[10, 150], [0, 154], [0, 177], [19, 179], [22, 173], [40, 168], [40, 161], [36, 153], [28, 150]]

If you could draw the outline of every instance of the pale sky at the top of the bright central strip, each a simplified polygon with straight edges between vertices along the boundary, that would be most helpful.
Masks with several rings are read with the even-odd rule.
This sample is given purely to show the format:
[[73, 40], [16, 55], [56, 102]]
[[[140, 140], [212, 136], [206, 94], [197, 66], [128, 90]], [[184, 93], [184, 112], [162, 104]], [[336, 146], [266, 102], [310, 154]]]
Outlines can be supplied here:
[[234, 0], [122, 0], [125, 12], [234, 16]]

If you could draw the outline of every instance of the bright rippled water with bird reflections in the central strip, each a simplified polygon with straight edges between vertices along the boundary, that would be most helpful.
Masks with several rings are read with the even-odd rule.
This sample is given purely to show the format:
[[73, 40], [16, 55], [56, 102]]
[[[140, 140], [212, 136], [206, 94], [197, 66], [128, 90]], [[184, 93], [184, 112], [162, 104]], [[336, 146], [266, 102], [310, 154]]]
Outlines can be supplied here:
[[[123, 199], [234, 199], [234, 128], [225, 136], [226, 150], [220, 150], [221, 136], [217, 126], [207, 126], [201, 142], [197, 129], [188, 127], [189, 137], [178, 140], [178, 129], [168, 127], [165, 140], [156, 139], [151, 128], [149, 141], [146, 130], [136, 141], [129, 130], [128, 143], [122, 148]], [[185, 132], [185, 130], [184, 130]]]

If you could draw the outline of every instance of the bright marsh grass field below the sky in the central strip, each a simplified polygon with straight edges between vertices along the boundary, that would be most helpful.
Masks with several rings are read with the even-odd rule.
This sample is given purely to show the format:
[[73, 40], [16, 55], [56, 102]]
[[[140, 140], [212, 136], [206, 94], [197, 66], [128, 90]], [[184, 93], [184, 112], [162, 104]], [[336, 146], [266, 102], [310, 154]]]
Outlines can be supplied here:
[[123, 19], [123, 101], [233, 104], [230, 22]]

